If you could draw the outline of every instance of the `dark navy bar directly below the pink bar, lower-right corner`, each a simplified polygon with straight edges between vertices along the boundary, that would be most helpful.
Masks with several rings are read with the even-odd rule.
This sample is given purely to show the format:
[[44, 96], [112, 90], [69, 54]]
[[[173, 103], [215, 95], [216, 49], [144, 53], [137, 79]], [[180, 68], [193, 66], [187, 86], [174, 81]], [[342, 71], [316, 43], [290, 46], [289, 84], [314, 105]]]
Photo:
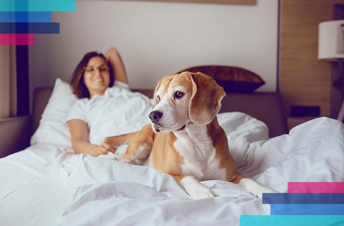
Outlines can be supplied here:
[[263, 204], [344, 204], [344, 194], [264, 193]]

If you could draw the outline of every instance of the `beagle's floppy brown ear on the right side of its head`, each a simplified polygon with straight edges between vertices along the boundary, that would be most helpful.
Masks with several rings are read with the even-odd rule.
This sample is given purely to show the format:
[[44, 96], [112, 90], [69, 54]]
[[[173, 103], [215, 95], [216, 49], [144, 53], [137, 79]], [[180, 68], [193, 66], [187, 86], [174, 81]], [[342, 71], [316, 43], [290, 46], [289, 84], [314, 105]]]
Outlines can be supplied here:
[[192, 97], [189, 116], [193, 123], [205, 125], [220, 111], [221, 100], [226, 96], [216, 81], [203, 73], [191, 73]]

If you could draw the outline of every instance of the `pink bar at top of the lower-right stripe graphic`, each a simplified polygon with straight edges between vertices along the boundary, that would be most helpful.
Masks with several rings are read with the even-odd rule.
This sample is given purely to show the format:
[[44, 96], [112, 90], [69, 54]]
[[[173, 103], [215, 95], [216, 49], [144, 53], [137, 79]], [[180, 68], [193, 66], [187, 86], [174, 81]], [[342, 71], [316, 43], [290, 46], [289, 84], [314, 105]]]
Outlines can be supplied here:
[[288, 193], [344, 193], [344, 182], [288, 182]]

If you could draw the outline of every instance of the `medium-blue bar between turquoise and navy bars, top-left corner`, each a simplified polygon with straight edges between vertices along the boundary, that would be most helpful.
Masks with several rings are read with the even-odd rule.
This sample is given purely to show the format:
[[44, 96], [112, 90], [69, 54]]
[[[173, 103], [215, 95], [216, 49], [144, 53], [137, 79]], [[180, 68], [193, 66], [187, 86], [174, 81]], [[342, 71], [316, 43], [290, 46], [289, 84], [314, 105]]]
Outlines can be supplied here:
[[52, 12], [0, 12], [1, 23], [52, 22]]

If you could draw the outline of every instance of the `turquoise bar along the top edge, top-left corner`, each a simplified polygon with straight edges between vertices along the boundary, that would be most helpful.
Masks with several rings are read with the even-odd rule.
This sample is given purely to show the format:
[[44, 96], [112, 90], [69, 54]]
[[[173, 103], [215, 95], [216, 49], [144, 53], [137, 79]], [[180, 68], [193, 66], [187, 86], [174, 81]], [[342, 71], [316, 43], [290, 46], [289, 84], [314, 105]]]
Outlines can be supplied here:
[[75, 11], [75, 0], [1, 0], [0, 11]]

